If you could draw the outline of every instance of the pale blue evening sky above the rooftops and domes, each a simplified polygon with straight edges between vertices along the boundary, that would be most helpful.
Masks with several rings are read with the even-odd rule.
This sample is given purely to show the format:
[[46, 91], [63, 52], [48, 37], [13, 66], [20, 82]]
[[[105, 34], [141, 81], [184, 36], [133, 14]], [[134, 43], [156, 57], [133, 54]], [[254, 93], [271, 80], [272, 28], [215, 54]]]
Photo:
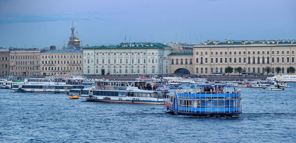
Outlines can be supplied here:
[[296, 39], [296, 0], [0, 0], [0, 46]]

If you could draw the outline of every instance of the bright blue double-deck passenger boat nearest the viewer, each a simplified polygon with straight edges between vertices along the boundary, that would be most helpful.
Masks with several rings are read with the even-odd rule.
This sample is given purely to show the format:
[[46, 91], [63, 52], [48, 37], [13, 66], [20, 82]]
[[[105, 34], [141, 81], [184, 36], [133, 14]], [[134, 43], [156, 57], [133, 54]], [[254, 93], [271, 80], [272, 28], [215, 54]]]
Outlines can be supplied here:
[[232, 117], [242, 113], [241, 89], [225, 91], [223, 84], [191, 85], [191, 90], [177, 90], [165, 102], [167, 110], [176, 115], [201, 117]]

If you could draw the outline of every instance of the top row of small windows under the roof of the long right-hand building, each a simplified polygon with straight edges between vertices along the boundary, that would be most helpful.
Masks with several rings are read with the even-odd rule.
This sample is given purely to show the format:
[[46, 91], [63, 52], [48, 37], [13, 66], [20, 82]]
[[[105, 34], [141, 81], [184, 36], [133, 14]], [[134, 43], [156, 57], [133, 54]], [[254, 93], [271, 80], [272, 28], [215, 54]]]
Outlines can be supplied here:
[[[227, 55], [227, 53], [228, 52], [224, 52], [224, 55]], [[233, 52], [234, 55], [236, 55], [237, 53], [239, 55], [241, 55], [242, 53], [245, 55], [246, 51]], [[274, 53], [275, 53], [275, 51], [271, 51], [271, 54], [274, 54]], [[281, 53], [285, 54], [285, 51], [281, 51]], [[199, 54], [199, 52], [196, 52], [196, 55], [198, 55], [198, 54]], [[218, 54], [222, 55], [223, 52], [215, 52], [215, 55], [218, 55]], [[248, 51], [248, 54], [251, 54], [251, 51]], [[257, 51], [257, 53], [256, 53], [256, 51], [252, 51], [252, 54], [260, 54], [260, 51]], [[265, 51], [262, 51], [261, 54], [265, 54]], [[269, 54], [269, 51], [266, 51], [266, 54]], [[276, 54], [280, 54], [280, 51], [276, 51]], [[290, 51], [286, 51], [286, 54], [290, 54]], [[294, 51], [292, 51], [292, 54], [294, 54]], [[203, 52], [200, 52], [200, 55], [203, 55]], [[208, 55], [208, 52], [205, 52], [205, 55]], [[211, 52], [211, 55], [214, 55], [214, 52]], [[232, 52], [229, 52], [229, 55], [232, 55]]]

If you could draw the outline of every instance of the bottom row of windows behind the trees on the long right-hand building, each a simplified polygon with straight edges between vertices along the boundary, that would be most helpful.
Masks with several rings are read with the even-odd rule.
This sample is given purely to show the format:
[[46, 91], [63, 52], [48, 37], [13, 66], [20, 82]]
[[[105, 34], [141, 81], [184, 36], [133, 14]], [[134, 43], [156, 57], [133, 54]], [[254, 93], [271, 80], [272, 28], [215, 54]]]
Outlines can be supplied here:
[[[260, 71], [260, 68], [257, 68], [257, 71], [256, 71], [256, 68], [253, 68], [251, 70], [251, 68], [248, 68], [248, 71], [246, 71], [246, 68], [243, 68], [243, 72], [254, 72], [254, 73], [265, 73], [265, 68], [261, 68], [262, 70]], [[199, 71], [200, 70], [200, 71]], [[205, 71], [203, 71], [205, 70]], [[215, 70], [215, 71], [214, 71]], [[234, 73], [236, 73], [236, 68], [234, 68]], [[287, 70], [286, 70], [287, 71]], [[211, 68], [211, 73], [214, 73], [214, 72], [223, 72], [223, 69], [222, 68]], [[224, 72], [225, 72], [225, 69], [224, 69]], [[274, 68], [271, 68], [271, 73], [275, 73], [275, 69]], [[285, 73], [285, 68], [282, 68], [282, 73]], [[197, 73], [208, 73], [208, 68], [196, 68], [196, 74]], [[287, 72], [288, 73], [288, 72]]]

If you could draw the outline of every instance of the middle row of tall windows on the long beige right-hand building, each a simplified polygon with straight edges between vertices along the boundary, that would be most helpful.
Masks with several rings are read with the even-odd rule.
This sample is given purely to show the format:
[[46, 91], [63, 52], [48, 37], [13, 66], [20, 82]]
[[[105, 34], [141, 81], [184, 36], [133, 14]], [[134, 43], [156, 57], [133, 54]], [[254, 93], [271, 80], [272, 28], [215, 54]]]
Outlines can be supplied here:
[[[215, 58], [215, 63], [227, 63], [227, 59], [228, 58], [224, 58], [224, 61], [223, 61], [223, 58]], [[233, 62], [232, 62], [232, 59], [233, 59]], [[219, 61], [218, 61], [219, 60]], [[237, 61], [238, 60], [238, 61]], [[257, 62], [256, 62], [257, 60]], [[276, 60], [276, 62], [275, 62]], [[178, 62], [178, 59], [176, 60], [176, 62]], [[200, 58], [200, 61], [199, 61], [199, 58], [196, 58], [196, 63], [199, 63], [200, 64], [203, 64], [203, 63], [208, 63], [208, 58], [205, 58], [205, 62], [203, 61], [203, 57]], [[286, 61], [285, 61], [285, 58], [282, 57], [281, 58], [281, 63], [294, 63], [295, 62], [295, 58], [292, 57], [291, 61], [290, 61], [290, 57], [287, 57], [286, 58]], [[214, 58], [211, 58], [211, 63], [214, 63]], [[229, 58], [229, 63], [246, 63], [246, 58]], [[269, 64], [270, 63], [270, 58], [267, 57], [266, 58], [266, 63], [265, 63], [265, 57], [253, 57], [252, 58], [252, 62], [251, 62], [251, 57], [248, 57], [248, 64]], [[280, 63], [280, 57], [272, 57], [271, 58], [271, 63]], [[176, 63], [177, 64], [177, 63]], [[173, 59], [172, 59], [172, 65], [173, 65]], [[178, 64], [177, 64], [178, 65]]]

